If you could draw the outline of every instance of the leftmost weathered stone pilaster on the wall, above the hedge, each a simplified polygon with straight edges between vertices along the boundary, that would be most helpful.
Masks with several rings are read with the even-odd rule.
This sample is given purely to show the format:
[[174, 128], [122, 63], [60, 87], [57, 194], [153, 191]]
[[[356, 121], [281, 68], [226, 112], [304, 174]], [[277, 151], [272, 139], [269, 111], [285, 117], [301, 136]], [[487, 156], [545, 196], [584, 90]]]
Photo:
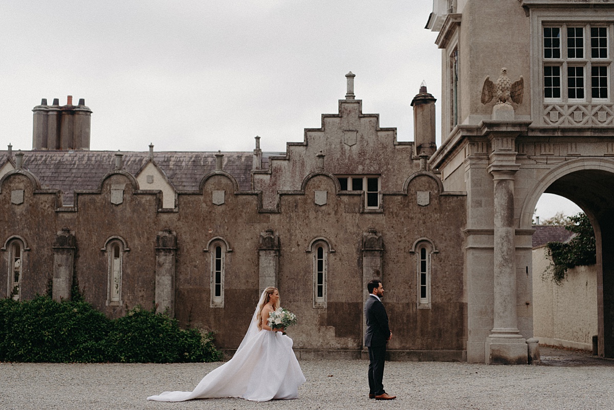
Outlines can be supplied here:
[[72, 276], [74, 276], [77, 241], [68, 228], [62, 228], [53, 243], [52, 298], [55, 301], [71, 300]]

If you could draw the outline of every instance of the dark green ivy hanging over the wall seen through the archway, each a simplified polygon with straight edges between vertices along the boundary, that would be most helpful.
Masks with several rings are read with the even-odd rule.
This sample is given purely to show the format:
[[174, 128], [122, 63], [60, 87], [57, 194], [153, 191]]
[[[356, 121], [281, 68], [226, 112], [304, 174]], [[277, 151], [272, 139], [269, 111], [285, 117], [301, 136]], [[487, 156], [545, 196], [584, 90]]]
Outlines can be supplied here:
[[569, 242], [548, 242], [550, 266], [545, 274], [551, 274], [557, 285], [565, 279], [567, 269], [596, 263], [595, 233], [585, 213], [567, 217], [565, 229], [576, 234]]

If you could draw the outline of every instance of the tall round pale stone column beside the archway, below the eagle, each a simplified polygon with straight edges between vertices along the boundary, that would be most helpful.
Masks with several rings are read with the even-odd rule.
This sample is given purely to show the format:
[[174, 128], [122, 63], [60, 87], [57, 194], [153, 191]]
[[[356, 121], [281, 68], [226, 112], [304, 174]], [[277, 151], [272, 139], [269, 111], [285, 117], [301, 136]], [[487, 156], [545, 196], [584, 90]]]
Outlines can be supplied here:
[[516, 230], [514, 227], [515, 138], [496, 136], [488, 172], [494, 180], [493, 327], [486, 339], [486, 363], [526, 364], [527, 344], [516, 313]]

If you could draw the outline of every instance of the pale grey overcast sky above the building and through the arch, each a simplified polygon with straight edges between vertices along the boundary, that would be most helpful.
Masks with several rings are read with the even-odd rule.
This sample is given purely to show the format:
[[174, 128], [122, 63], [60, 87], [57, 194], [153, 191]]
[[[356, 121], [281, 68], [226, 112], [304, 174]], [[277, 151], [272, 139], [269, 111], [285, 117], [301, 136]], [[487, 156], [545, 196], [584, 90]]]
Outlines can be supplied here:
[[[2, 0], [0, 144], [31, 149], [32, 108], [72, 95], [93, 111], [92, 150], [246, 151], [258, 135], [282, 152], [338, 112], [349, 71], [363, 112], [413, 141], [411, 99], [423, 80], [441, 94], [431, 11], [432, 0]], [[440, 120], [437, 134], [439, 145]]]

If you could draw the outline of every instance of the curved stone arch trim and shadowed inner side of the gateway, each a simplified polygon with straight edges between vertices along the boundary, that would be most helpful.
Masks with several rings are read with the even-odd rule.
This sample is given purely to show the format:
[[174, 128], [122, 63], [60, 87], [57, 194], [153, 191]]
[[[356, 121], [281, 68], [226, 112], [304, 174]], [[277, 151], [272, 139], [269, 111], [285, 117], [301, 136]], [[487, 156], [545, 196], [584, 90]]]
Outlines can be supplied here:
[[599, 355], [614, 357], [614, 164], [574, 160], [551, 169], [527, 195], [520, 227], [530, 228], [542, 193], [570, 199], [588, 215], [597, 247], [597, 336]]

